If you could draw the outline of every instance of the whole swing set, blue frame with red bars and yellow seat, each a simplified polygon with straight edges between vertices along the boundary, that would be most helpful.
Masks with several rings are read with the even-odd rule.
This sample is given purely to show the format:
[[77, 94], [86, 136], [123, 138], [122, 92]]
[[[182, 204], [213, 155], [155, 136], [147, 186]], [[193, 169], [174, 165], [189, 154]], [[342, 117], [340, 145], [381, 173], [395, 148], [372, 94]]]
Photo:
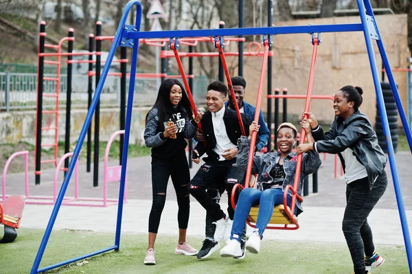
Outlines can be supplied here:
[[[130, 137], [130, 124], [131, 124], [131, 117], [132, 117], [132, 108], [133, 108], [133, 95], [134, 95], [134, 87], [135, 87], [135, 73], [137, 67], [137, 54], [139, 51], [139, 39], [143, 38], [168, 38], [170, 39], [170, 49], [174, 52], [176, 57], [176, 61], [179, 65], [179, 70], [181, 71], [181, 75], [183, 76], [183, 82], [185, 84], [185, 88], [187, 91], [187, 96], [190, 99], [192, 111], [194, 115], [197, 115], [196, 106], [194, 105], [192, 93], [189, 89], [189, 84], [187, 83], [187, 79], [185, 77], [185, 73], [183, 71], [183, 65], [181, 64], [181, 60], [179, 57], [179, 53], [177, 49], [179, 48], [179, 38], [192, 38], [192, 37], [213, 37], [215, 39], [215, 47], [218, 49], [219, 56], [222, 60], [222, 64], [225, 67], [225, 74], [227, 78], [227, 82], [229, 85], [229, 89], [234, 99], [233, 87], [231, 85], [230, 76], [227, 70], [227, 64], [225, 62], [225, 54], [223, 53], [223, 46], [224, 46], [224, 37], [225, 36], [251, 36], [251, 35], [264, 35], [264, 54], [262, 60], [262, 73], [260, 75], [260, 82], [259, 82], [259, 89], [258, 89], [258, 98], [256, 102], [256, 112], [254, 121], [258, 122], [259, 112], [260, 112], [260, 103], [262, 100], [262, 91], [263, 91], [263, 84], [264, 84], [264, 74], [266, 72], [266, 65], [267, 65], [267, 56], [268, 56], [268, 49], [271, 47], [272, 44], [272, 36], [280, 35], [280, 34], [312, 34], [312, 45], [313, 45], [313, 52], [312, 52], [312, 62], [310, 65], [310, 74], [309, 74], [309, 81], [308, 81], [308, 89], [306, 93], [306, 104], [305, 104], [305, 111], [309, 111], [310, 107], [310, 99], [312, 96], [312, 85], [313, 85], [313, 76], [314, 76], [314, 65], [316, 62], [317, 56], [317, 47], [320, 43], [320, 34], [322, 32], [363, 32], [365, 37], [365, 43], [367, 47], [367, 54], [369, 56], [369, 64], [371, 67], [372, 76], [374, 79], [374, 86], [376, 91], [376, 98], [378, 102], [378, 106], [380, 109], [380, 118], [382, 121], [383, 130], [385, 133], [386, 141], [387, 141], [387, 153], [389, 157], [389, 163], [391, 168], [391, 174], [393, 177], [393, 185], [395, 188], [396, 199], [398, 201], [398, 210], [400, 214], [400, 221], [402, 225], [402, 232], [404, 236], [404, 243], [405, 248], [407, 251], [407, 258], [409, 263], [409, 270], [412, 272], [412, 248], [411, 248], [411, 237], [409, 234], [408, 224], [407, 224], [407, 217], [406, 212], [404, 209], [404, 203], [402, 200], [402, 192], [400, 190], [400, 182], [398, 176], [398, 170], [396, 168], [396, 160], [394, 157], [393, 145], [389, 130], [389, 124], [387, 119], [387, 113], [385, 110], [385, 103], [383, 100], [382, 89], [380, 87], [380, 78], [378, 75], [378, 68], [376, 66], [376, 60], [374, 56], [374, 49], [372, 47], [372, 39], [376, 40], [378, 45], [378, 49], [380, 52], [380, 56], [382, 58], [385, 70], [387, 72], [387, 77], [389, 79], [389, 83], [391, 84], [391, 89], [393, 92], [393, 97], [396, 101], [396, 106], [398, 107], [398, 112], [400, 114], [400, 119], [402, 120], [402, 126], [405, 130], [405, 134], [407, 136], [407, 140], [409, 143], [409, 148], [411, 148], [412, 152], [412, 135], [411, 130], [409, 129], [407, 117], [405, 115], [404, 109], [402, 107], [402, 102], [400, 100], [400, 95], [398, 89], [396, 87], [395, 80], [393, 78], [393, 74], [391, 71], [391, 66], [389, 65], [389, 60], [387, 58], [387, 54], [385, 52], [385, 48], [383, 46], [382, 40], [380, 38], [380, 34], [378, 31], [378, 27], [376, 25], [376, 20], [374, 17], [374, 13], [371, 8], [371, 3], [369, 0], [356, 0], [358, 5], [359, 14], [361, 17], [361, 23], [354, 23], [354, 24], [337, 24], [337, 25], [307, 25], [307, 26], [281, 26], [281, 27], [242, 27], [242, 28], [233, 28], [233, 29], [213, 29], [213, 30], [169, 30], [169, 31], [158, 31], [158, 32], [141, 32], [140, 25], [141, 25], [141, 16], [142, 16], [142, 6], [141, 3], [137, 0], [131, 0], [126, 4], [124, 8], [124, 12], [122, 14], [122, 19], [119, 22], [119, 26], [117, 27], [117, 32], [115, 37], [113, 38], [113, 44], [111, 46], [110, 52], [108, 53], [106, 63], [104, 65], [102, 76], [98, 83], [98, 87], [95, 90], [95, 94], [93, 96], [93, 100], [91, 102], [89, 111], [87, 113], [87, 117], [84, 121], [82, 130], [78, 137], [78, 142], [76, 144], [76, 148], [73, 151], [73, 157], [71, 157], [71, 161], [69, 163], [69, 168], [67, 169], [67, 174], [65, 179], [62, 182], [62, 186], [60, 187], [60, 192], [58, 194], [56, 203], [54, 205], [54, 209], [52, 211], [52, 216], [50, 216], [49, 222], [47, 224], [47, 228], [45, 230], [45, 234], [43, 236], [43, 240], [41, 241], [40, 247], [38, 249], [36, 258], [34, 260], [34, 264], [32, 266], [32, 274], [41, 273], [44, 271], [48, 271], [50, 269], [55, 269], [59, 266], [64, 266], [66, 264], [70, 264], [72, 262], [76, 262], [78, 260], [83, 260], [85, 258], [92, 257], [94, 255], [98, 255], [100, 253], [104, 253], [107, 251], [119, 251], [120, 247], [120, 233], [122, 228], [122, 212], [123, 212], [123, 201], [124, 201], [124, 188], [125, 188], [125, 181], [126, 181], [126, 164], [128, 158], [128, 144], [129, 144], [129, 137]], [[126, 25], [126, 19], [128, 14], [133, 8], [133, 5], [136, 6], [136, 21], [135, 25]], [[317, 34], [317, 35], [315, 35]], [[88, 253], [86, 255], [81, 255], [77, 258], [72, 258], [66, 260], [64, 262], [59, 262], [57, 264], [53, 264], [51, 266], [46, 266], [43, 269], [39, 269], [41, 260], [43, 258], [43, 254], [45, 248], [47, 247], [47, 242], [49, 240], [49, 236], [52, 233], [52, 229], [54, 227], [54, 223], [56, 222], [56, 218], [60, 209], [60, 205], [63, 202], [65, 192], [67, 190], [67, 186], [69, 184], [69, 180], [73, 173], [73, 170], [76, 165], [76, 161], [80, 154], [80, 149], [82, 147], [83, 141], [85, 136], [87, 135], [87, 129], [91, 124], [91, 118], [93, 117], [93, 113], [95, 108], [98, 104], [98, 100], [100, 98], [100, 94], [102, 93], [102, 88], [106, 77], [108, 75], [108, 69], [111, 65], [113, 60], [113, 56], [115, 54], [115, 50], [117, 47], [131, 47], [132, 51], [132, 62], [130, 67], [130, 84], [129, 84], [129, 93], [128, 93], [128, 104], [127, 104], [127, 112], [126, 112], [126, 126], [125, 126], [125, 133], [124, 133], [124, 148], [123, 148], [123, 158], [122, 158], [122, 172], [121, 172], [121, 180], [119, 185], [119, 200], [117, 205], [117, 225], [115, 231], [115, 243], [111, 247], [107, 247], [105, 249], [94, 251], [92, 253]], [[238, 110], [238, 106], [236, 103], [233, 104], [236, 108], [236, 112], [238, 113], [238, 117], [240, 117], [240, 113]], [[239, 119], [240, 123], [242, 119]], [[243, 125], [242, 125], [243, 127]], [[242, 134], [244, 135], [244, 128], [242, 129]], [[304, 130], [301, 131], [301, 141], [304, 141], [306, 137], [306, 133]], [[251, 150], [249, 151], [249, 162], [247, 168], [247, 177], [245, 182], [245, 187], [249, 187], [249, 181], [251, 178], [251, 163], [253, 161], [253, 147], [255, 146], [255, 139], [256, 139], [256, 132], [253, 132], [252, 139], [251, 139]], [[301, 161], [302, 156], [299, 155], [297, 159], [297, 168], [295, 174], [295, 181], [293, 187], [288, 186], [284, 191], [284, 205], [280, 205], [275, 208], [273, 213], [273, 218], [271, 220], [271, 225], [268, 228], [271, 229], [298, 229], [299, 224], [297, 222], [296, 216], [294, 216], [293, 212], [295, 210], [295, 203], [296, 199], [302, 201], [301, 196], [297, 194], [297, 187], [299, 183], [299, 174], [301, 171]], [[241, 187], [238, 185], [237, 187]], [[235, 190], [233, 190], [234, 192]], [[292, 203], [290, 208], [286, 205], [286, 196], [288, 192], [292, 194]], [[232, 199], [233, 201], [233, 199]], [[234, 205], [233, 205], [234, 207]], [[252, 209], [250, 213], [249, 223], [254, 222], [256, 220], [256, 209]], [[279, 226], [280, 225], [280, 226]]]

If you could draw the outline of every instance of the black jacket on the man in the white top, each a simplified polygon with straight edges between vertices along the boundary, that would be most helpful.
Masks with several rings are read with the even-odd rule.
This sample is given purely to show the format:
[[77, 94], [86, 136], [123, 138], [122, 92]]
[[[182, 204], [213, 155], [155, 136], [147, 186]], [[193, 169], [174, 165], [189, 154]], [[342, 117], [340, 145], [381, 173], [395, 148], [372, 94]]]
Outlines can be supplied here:
[[[249, 126], [251, 125], [251, 119], [244, 115], [244, 113], [240, 113], [243, 121], [244, 130], [246, 131], [247, 136], [249, 136]], [[216, 146], [216, 136], [214, 135], [213, 130], [213, 123], [211, 122], [211, 115], [210, 111], [207, 111], [205, 115], [203, 115], [201, 119], [201, 126], [203, 130], [203, 136], [205, 137], [205, 141], [199, 141], [196, 145], [195, 150], [198, 151], [199, 156], [204, 155], [207, 153], [208, 157], [203, 158], [205, 162], [207, 161], [218, 161], [219, 155], [214, 152], [214, 148]], [[223, 115], [223, 122], [225, 123], [227, 137], [229, 137], [230, 141], [238, 146], [238, 139], [242, 136], [242, 131], [240, 130], [238, 116], [236, 115], [236, 111], [233, 111], [229, 108], [225, 108], [225, 114]], [[259, 140], [257, 139], [256, 142]]]

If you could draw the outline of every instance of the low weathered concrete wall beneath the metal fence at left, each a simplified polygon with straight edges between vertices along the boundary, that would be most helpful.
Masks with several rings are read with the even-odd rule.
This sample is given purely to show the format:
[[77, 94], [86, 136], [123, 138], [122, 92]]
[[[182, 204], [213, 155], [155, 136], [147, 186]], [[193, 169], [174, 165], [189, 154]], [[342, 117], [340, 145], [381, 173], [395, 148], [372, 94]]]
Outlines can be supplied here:
[[[130, 143], [144, 144], [143, 134], [146, 113], [149, 107], [139, 107], [133, 109], [132, 125], [130, 128]], [[71, 111], [71, 143], [77, 141], [80, 130], [86, 119], [86, 110]], [[17, 143], [27, 141], [34, 144], [36, 133], [36, 113], [34, 111], [12, 111], [0, 113], [0, 144]], [[119, 109], [100, 109], [100, 140], [106, 141], [116, 131], [119, 130]], [[43, 115], [43, 127], [54, 126], [56, 120], [54, 115]], [[65, 141], [65, 111], [59, 111], [58, 114], [58, 139]], [[92, 122], [92, 140], [94, 137], [94, 122]], [[54, 135], [52, 130], [43, 131], [42, 144], [51, 144]]]

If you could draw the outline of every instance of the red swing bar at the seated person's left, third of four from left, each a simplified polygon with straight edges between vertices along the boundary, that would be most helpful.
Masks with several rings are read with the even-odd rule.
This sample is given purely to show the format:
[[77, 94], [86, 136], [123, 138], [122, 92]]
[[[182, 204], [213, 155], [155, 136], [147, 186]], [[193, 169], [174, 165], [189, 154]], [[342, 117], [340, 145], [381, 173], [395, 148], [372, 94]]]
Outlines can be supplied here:
[[[264, 76], [266, 73], [266, 67], [268, 62], [268, 52], [269, 52], [269, 39], [264, 41], [264, 57], [262, 60], [262, 68], [260, 72], [260, 80], [259, 80], [259, 88], [258, 88], [258, 99], [256, 99], [256, 111], [255, 117], [253, 121], [259, 121], [259, 113], [260, 113], [260, 103], [262, 101], [262, 93], [263, 93], [263, 85], [264, 85]], [[249, 187], [249, 181], [251, 181], [251, 172], [252, 172], [252, 165], [253, 165], [253, 156], [255, 155], [255, 144], [256, 144], [256, 135], [257, 132], [253, 131], [252, 139], [251, 139], [251, 148], [249, 149], [249, 160], [247, 162], [247, 170], [246, 170], [246, 181], [244, 183], [244, 187]]]

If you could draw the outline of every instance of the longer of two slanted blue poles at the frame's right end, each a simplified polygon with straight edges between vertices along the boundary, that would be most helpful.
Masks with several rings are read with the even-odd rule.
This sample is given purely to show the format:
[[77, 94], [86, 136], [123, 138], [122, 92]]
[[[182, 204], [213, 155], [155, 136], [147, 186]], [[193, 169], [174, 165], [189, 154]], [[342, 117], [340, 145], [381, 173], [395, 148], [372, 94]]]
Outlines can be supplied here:
[[[378, 106], [380, 111], [380, 120], [382, 121], [383, 132], [385, 133], [385, 139], [387, 142], [387, 152], [389, 157], [389, 164], [391, 166], [393, 185], [395, 187], [396, 201], [398, 202], [398, 209], [400, 215], [400, 222], [402, 225], [402, 231], [404, 235], [405, 248], [407, 249], [407, 257], [409, 263], [409, 271], [412, 273], [412, 249], [411, 249], [411, 236], [409, 235], [407, 214], [405, 212], [404, 203], [402, 199], [402, 192], [400, 190], [398, 170], [396, 170], [396, 159], [395, 152], [393, 151], [393, 144], [391, 138], [391, 131], [389, 130], [388, 117], [385, 109], [385, 102], [383, 100], [382, 89], [380, 87], [380, 80], [378, 74], [378, 67], [376, 66], [376, 60], [374, 56], [374, 48], [372, 47], [371, 35], [369, 34], [369, 28], [367, 25], [367, 15], [365, 12], [365, 5], [369, 8], [370, 16], [373, 18], [373, 12], [371, 12], [371, 6], [369, 0], [356, 0], [358, 3], [359, 14], [361, 16], [361, 21], [363, 25], [363, 34], [365, 36], [365, 43], [367, 47], [367, 54], [369, 56], [369, 62], [371, 65], [372, 76], [374, 78], [375, 90], [376, 90], [376, 100], [378, 100]], [[370, 20], [371, 18], [369, 18]], [[377, 27], [376, 27], [377, 29]], [[380, 37], [378, 37], [380, 39]], [[382, 48], [382, 52], [385, 52], [385, 49]], [[381, 52], [381, 54], [382, 54]], [[386, 66], [385, 66], [386, 67]], [[388, 67], [390, 71], [390, 67]], [[391, 74], [387, 74], [388, 78], [392, 78]], [[394, 89], [392, 89], [393, 91]]]

